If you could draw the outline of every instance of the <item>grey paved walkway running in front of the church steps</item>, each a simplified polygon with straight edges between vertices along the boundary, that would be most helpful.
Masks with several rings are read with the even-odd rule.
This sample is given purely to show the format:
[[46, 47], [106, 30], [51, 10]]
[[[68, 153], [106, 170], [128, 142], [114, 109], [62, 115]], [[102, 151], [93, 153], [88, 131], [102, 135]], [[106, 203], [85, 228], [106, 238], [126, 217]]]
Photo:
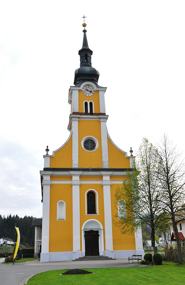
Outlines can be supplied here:
[[[2, 259], [0, 259], [2, 261]], [[138, 262], [128, 263], [128, 259], [94, 260], [94, 261], [60, 261], [42, 262], [39, 260], [23, 263], [0, 264], [0, 285], [24, 285], [33, 275], [48, 271], [75, 268], [109, 268], [109, 267], [146, 267]]]

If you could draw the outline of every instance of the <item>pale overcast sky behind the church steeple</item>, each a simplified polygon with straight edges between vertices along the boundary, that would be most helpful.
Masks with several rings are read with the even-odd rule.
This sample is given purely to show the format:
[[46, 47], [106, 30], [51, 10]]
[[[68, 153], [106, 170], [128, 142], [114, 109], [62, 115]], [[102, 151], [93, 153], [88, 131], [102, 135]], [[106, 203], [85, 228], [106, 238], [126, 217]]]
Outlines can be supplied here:
[[185, 1], [0, 0], [0, 214], [42, 217], [40, 173], [69, 136], [83, 19], [114, 143], [164, 132], [185, 154]]

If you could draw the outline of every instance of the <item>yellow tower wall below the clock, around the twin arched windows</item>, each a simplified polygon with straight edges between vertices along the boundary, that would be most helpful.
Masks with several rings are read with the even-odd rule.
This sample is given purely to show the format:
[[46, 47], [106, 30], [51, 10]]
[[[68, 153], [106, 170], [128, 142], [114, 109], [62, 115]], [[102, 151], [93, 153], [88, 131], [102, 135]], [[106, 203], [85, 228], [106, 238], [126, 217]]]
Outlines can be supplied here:
[[95, 93], [88, 97], [84, 95], [82, 91], [78, 92], [78, 112], [84, 113], [84, 101], [93, 101], [94, 103], [94, 113], [100, 113], [99, 106], [99, 91], [95, 91]]

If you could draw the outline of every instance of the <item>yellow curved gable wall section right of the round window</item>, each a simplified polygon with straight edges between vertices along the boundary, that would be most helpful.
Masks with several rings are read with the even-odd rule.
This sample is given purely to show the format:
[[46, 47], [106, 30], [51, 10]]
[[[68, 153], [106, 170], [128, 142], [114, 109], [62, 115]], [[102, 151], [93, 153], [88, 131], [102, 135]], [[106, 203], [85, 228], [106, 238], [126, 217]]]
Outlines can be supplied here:
[[108, 155], [109, 155], [109, 167], [110, 168], [130, 168], [130, 160], [125, 157], [125, 153], [117, 149], [110, 139], [108, 141]]

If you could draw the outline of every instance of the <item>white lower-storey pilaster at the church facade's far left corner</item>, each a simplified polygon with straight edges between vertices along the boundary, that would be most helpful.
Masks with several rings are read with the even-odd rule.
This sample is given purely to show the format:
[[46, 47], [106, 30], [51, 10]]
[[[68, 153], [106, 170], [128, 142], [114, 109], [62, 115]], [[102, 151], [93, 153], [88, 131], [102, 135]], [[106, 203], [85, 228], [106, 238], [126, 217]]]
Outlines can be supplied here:
[[49, 252], [49, 206], [50, 206], [50, 175], [43, 175], [43, 206], [42, 206], [42, 252]]

